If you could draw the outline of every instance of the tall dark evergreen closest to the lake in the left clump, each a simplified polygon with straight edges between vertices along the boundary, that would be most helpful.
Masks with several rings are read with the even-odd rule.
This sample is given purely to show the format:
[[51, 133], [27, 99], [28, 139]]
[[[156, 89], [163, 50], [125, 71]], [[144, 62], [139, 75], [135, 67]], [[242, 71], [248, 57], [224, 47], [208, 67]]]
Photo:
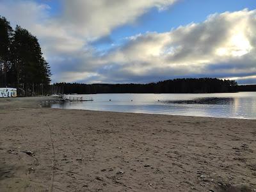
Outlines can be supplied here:
[[34, 92], [35, 86], [49, 84], [51, 72], [49, 64], [42, 56], [36, 36], [17, 26], [12, 43], [13, 67], [15, 67], [17, 87], [22, 84], [25, 92]]

